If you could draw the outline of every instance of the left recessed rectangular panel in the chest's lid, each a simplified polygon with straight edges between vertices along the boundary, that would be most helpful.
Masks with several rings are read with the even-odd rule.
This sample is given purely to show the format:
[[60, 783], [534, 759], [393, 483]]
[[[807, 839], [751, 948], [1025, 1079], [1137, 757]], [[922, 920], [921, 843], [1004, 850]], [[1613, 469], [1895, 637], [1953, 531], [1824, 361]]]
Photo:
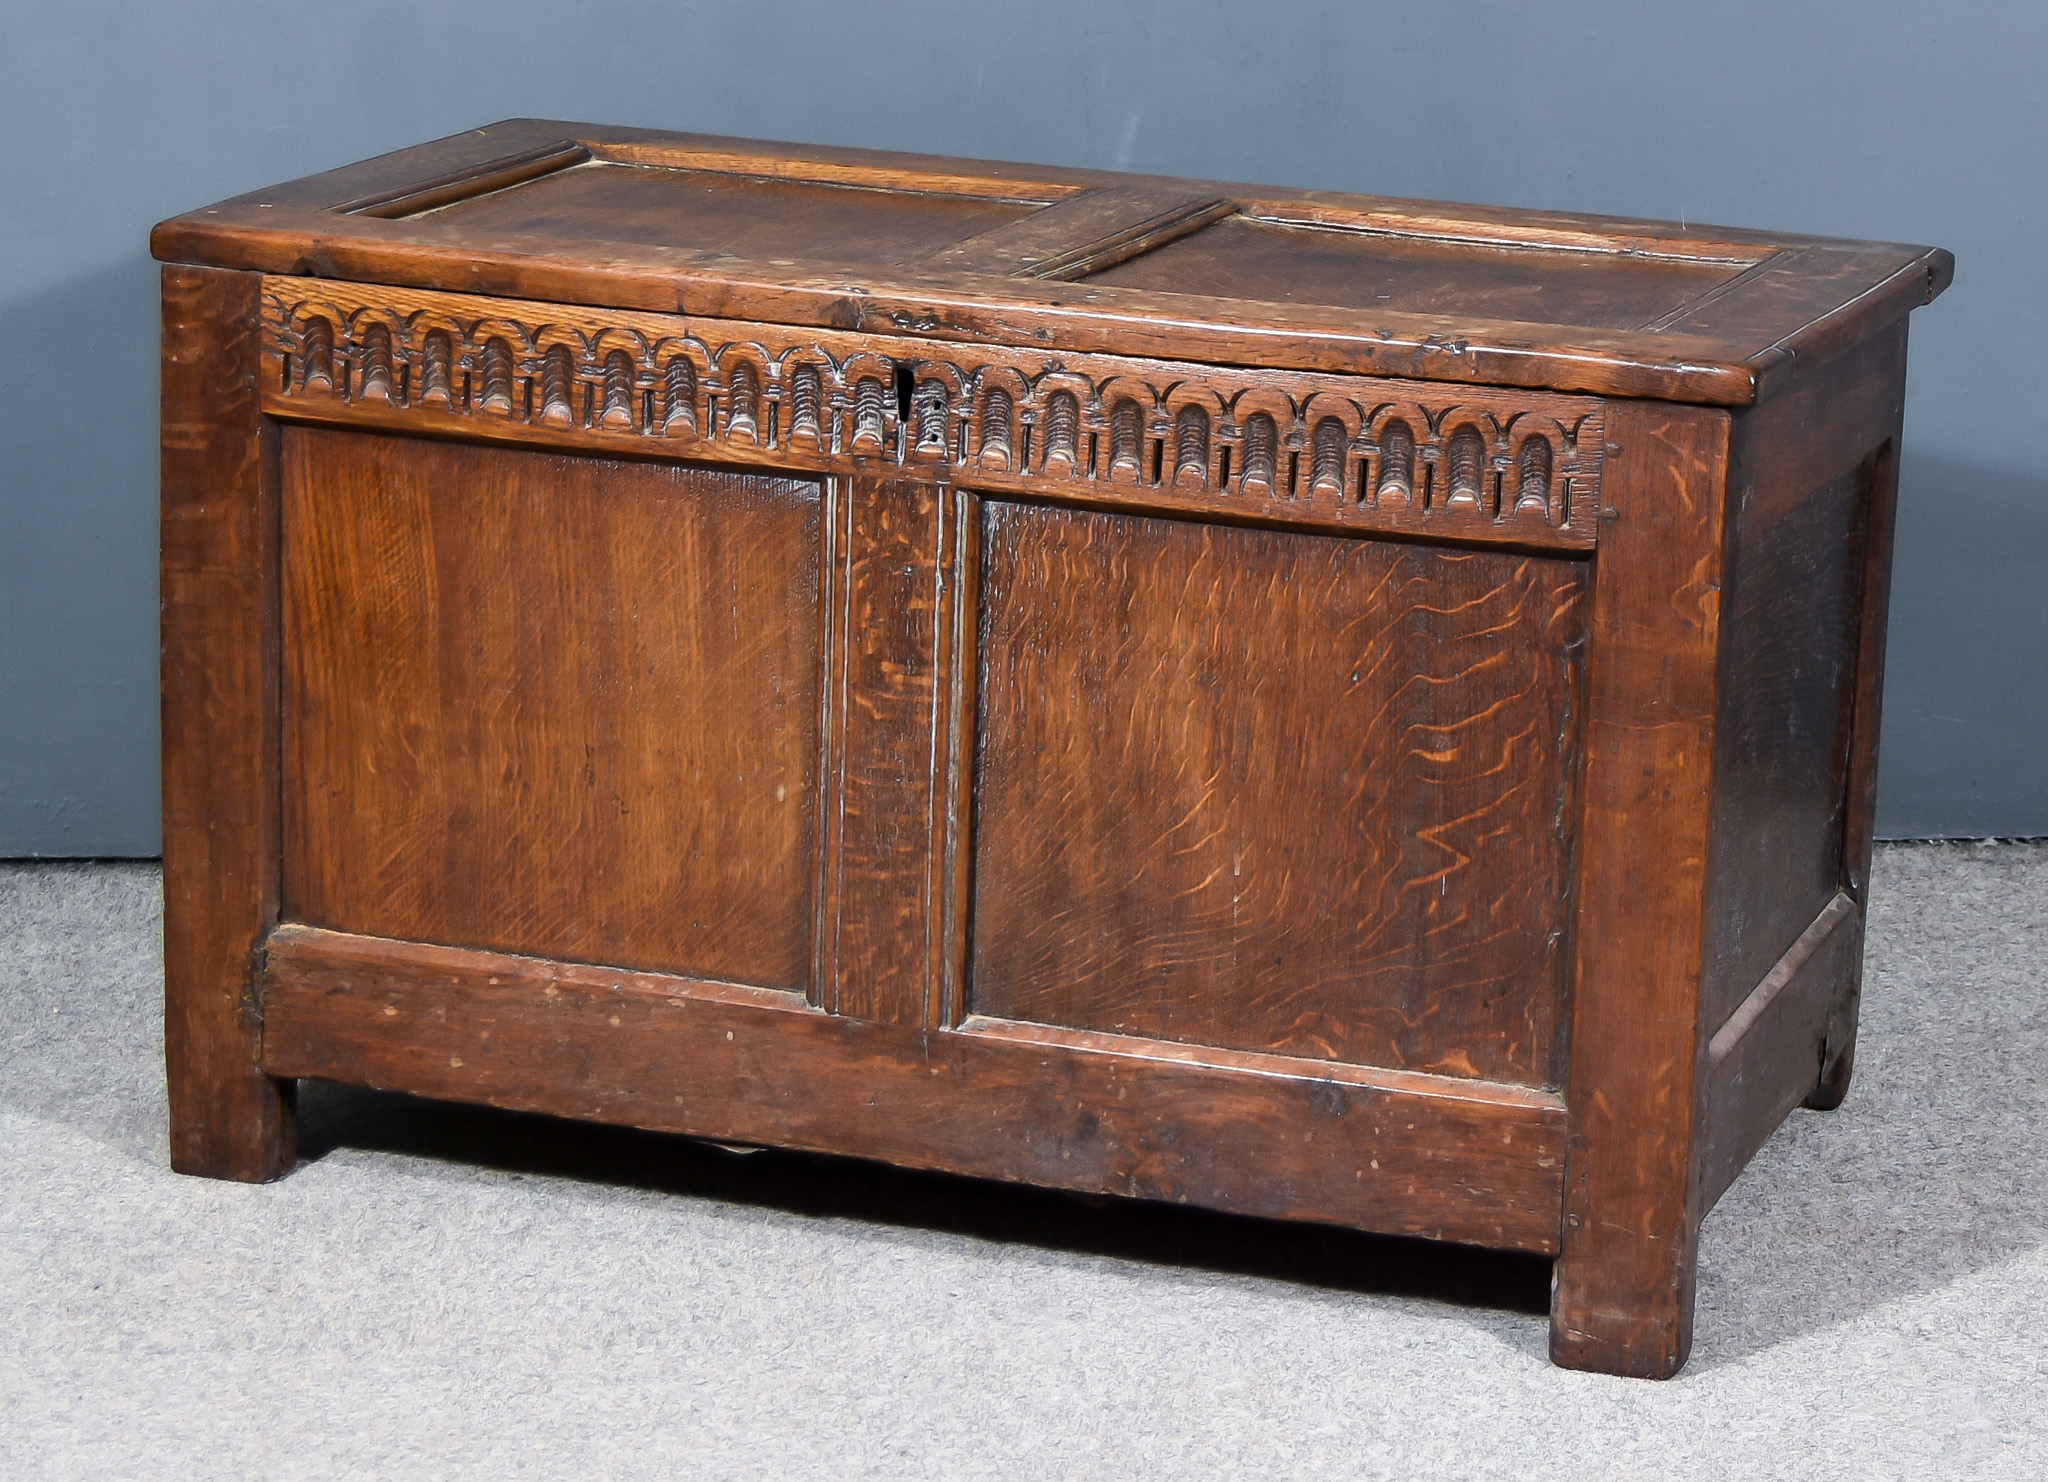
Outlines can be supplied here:
[[758, 262], [893, 268], [1018, 221], [1040, 205], [588, 160], [406, 219], [729, 252]]

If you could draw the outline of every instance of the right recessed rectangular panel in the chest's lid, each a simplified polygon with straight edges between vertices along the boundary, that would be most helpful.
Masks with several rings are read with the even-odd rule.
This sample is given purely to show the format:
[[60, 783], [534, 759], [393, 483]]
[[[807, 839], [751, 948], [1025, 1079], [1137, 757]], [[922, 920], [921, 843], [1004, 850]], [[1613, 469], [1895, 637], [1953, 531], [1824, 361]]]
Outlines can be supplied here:
[[1368, 313], [1642, 330], [1759, 258], [1556, 252], [1239, 215], [1110, 266], [1090, 282]]

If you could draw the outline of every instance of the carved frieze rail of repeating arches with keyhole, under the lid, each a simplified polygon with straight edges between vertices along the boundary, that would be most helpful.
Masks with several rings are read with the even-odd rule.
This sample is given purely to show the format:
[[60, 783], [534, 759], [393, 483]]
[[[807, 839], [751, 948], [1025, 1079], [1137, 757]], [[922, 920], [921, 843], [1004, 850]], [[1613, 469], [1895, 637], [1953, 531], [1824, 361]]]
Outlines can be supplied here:
[[975, 487], [1321, 528], [1565, 549], [1595, 540], [1604, 422], [1593, 397], [942, 350], [264, 278], [266, 401], [281, 416], [467, 424], [485, 436], [524, 426], [578, 444], [793, 469], [924, 465]]

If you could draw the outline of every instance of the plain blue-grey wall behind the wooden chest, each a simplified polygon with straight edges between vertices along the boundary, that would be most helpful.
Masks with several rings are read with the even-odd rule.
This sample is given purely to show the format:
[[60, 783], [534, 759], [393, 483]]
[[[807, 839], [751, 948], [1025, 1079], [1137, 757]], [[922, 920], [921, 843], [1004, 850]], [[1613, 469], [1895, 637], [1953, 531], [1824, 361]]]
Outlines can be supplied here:
[[2048, 6], [0, 4], [0, 856], [158, 849], [150, 223], [508, 115], [1925, 242], [1888, 835], [2048, 833]]

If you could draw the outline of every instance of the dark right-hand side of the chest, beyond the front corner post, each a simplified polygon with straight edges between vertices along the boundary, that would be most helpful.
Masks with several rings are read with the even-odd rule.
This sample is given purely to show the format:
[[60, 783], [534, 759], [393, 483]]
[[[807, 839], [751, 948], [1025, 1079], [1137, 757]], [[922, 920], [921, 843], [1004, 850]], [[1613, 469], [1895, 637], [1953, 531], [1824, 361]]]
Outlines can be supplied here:
[[[1706, 1032], [1724, 1042], [1708, 1087], [1708, 1204], [1794, 1105], [1837, 1105], [1855, 1064], [1905, 330], [1735, 422], [1702, 995]], [[1851, 917], [1798, 991], [1751, 1017], [1837, 892]]]

